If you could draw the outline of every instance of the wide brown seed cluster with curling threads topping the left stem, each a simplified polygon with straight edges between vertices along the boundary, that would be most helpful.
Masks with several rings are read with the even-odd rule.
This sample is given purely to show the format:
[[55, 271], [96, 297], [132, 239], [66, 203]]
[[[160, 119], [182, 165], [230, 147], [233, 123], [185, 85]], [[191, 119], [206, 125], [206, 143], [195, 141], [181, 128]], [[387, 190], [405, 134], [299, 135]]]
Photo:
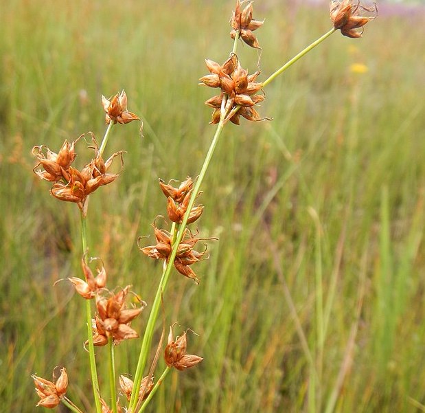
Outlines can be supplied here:
[[[123, 151], [115, 152], [104, 161], [95, 137], [91, 135], [95, 157], [82, 170], [78, 170], [73, 168], [71, 164], [77, 156], [76, 143], [82, 136], [84, 135], [71, 143], [65, 140], [58, 153], [54, 153], [44, 145], [34, 146], [32, 153], [38, 159], [38, 164], [34, 167], [36, 175], [45, 181], [54, 182], [50, 193], [60, 201], [77, 203], [78, 208], [84, 212], [89, 194], [100, 186], [115, 181], [119, 176], [118, 174], [108, 173], [108, 169], [117, 156], [121, 157], [123, 164]], [[38, 166], [43, 167], [43, 169], [37, 169]]]

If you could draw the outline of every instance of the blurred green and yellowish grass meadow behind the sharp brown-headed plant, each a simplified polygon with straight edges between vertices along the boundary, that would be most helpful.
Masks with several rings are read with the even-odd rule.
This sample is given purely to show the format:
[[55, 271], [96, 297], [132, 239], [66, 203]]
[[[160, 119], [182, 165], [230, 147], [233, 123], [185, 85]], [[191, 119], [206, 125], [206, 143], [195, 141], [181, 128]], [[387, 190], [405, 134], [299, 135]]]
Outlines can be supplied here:
[[[126, 90], [144, 137], [135, 122], [113, 129], [107, 151], [126, 150], [125, 168], [91, 197], [89, 245], [109, 285], [133, 284], [149, 304], [160, 265], [137, 237], [153, 243], [150, 223], [165, 214], [158, 177], [200, 169], [214, 91], [197, 80], [204, 58], [227, 58], [233, 7], [1, 8], [3, 412], [36, 411], [30, 375], [58, 365], [69, 397], [93, 411], [82, 299], [66, 282], [53, 287], [80, 274], [78, 208], [36, 179], [32, 146], [57, 151], [88, 131], [101, 139], [100, 95]], [[201, 236], [220, 239], [193, 267], [200, 285], [175, 274], [164, 297], [167, 323], [196, 331], [188, 350], [205, 360], [173, 372], [150, 412], [425, 412], [425, 15], [409, 10], [382, 12], [358, 41], [334, 34], [268, 87], [260, 113], [273, 122], [226, 128], [198, 221]], [[330, 27], [327, 4], [257, 1], [254, 17], [266, 19], [262, 79]], [[257, 53], [239, 54], [255, 71]], [[79, 151], [82, 166], [91, 152]], [[147, 316], [133, 326], [143, 331]], [[118, 372], [134, 372], [137, 344], [117, 348]], [[102, 386], [104, 348], [97, 355]]]

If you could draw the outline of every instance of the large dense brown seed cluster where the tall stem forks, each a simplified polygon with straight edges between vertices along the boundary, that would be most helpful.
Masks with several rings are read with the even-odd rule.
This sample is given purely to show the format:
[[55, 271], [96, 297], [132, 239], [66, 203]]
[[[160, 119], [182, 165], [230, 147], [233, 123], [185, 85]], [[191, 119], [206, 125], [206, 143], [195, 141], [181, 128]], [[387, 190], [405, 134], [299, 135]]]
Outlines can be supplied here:
[[249, 75], [236, 54], [231, 54], [222, 65], [209, 59], [205, 59], [205, 63], [210, 74], [199, 79], [200, 85], [220, 88], [219, 95], [205, 102], [214, 108], [210, 124], [217, 124], [222, 117], [239, 124], [241, 115], [251, 121], [264, 120], [254, 109], [264, 100], [264, 95], [256, 94], [262, 88], [262, 83], [255, 81], [260, 71]]

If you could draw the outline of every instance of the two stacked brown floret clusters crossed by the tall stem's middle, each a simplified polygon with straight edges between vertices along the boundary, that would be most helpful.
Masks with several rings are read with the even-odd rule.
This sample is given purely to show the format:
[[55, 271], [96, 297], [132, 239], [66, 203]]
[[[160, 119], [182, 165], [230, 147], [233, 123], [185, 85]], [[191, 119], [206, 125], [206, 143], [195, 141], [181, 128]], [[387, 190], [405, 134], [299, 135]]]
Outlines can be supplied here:
[[[168, 199], [168, 217], [175, 223], [181, 223], [189, 207], [189, 200], [193, 192], [192, 178], [188, 177], [178, 188], [174, 188], [170, 183], [166, 184], [162, 180], [159, 181], [159, 185], [161, 186], [163, 194], [165, 194]], [[203, 205], [192, 207], [188, 215], [187, 223], [194, 223], [199, 219], [203, 212], [203, 208]], [[154, 228], [157, 244], [149, 245], [148, 247], [139, 247], [139, 249], [150, 258], [168, 262], [174, 245], [174, 234], [170, 234], [167, 230], [159, 229], [156, 223], [153, 223], [152, 226]], [[140, 239], [141, 238], [139, 238], [139, 241]], [[194, 280], [196, 284], [198, 284], [199, 278], [190, 266], [202, 260], [205, 256], [205, 251], [198, 252], [194, 250], [194, 246], [201, 239], [203, 238], [194, 236], [188, 228], [185, 228], [183, 238], [179, 243], [174, 258], [174, 267], [176, 270], [179, 271], [180, 274], [183, 274], [183, 276]]]

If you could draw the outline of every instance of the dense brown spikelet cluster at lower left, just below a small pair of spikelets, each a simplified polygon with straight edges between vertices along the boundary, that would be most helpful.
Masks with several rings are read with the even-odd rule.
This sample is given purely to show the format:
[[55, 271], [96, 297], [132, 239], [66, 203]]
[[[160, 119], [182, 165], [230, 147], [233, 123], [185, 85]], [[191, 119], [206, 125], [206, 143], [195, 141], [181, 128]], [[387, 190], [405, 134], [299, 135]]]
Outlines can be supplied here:
[[137, 331], [130, 327], [132, 322], [146, 306], [146, 302], [139, 301], [139, 307], [126, 308], [126, 296], [130, 291], [128, 285], [120, 289], [109, 298], [97, 296], [95, 324], [93, 329], [93, 344], [95, 346], [105, 346], [109, 337], [113, 343], [118, 344], [125, 339], [139, 337]]

